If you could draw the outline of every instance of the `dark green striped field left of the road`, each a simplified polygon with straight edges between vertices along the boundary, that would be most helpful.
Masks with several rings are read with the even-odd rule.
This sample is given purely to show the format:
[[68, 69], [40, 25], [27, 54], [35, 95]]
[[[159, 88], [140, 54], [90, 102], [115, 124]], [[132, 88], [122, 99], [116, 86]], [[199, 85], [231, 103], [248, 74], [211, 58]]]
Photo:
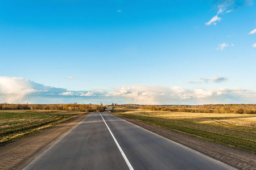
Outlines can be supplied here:
[[14, 110], [0, 111], [0, 145], [48, 128], [85, 112]]

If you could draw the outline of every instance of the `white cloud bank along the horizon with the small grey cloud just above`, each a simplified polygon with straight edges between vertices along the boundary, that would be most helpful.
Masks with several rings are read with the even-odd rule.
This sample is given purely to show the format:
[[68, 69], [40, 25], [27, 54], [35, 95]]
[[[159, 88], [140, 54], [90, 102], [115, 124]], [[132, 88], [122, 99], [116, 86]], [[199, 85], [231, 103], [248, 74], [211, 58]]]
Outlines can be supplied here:
[[[220, 83], [227, 78], [200, 78]], [[24, 78], [0, 76], [0, 103], [137, 103], [137, 104], [217, 104], [256, 103], [256, 92], [242, 88], [195, 88], [136, 84], [111, 90], [68, 91], [44, 86]]]

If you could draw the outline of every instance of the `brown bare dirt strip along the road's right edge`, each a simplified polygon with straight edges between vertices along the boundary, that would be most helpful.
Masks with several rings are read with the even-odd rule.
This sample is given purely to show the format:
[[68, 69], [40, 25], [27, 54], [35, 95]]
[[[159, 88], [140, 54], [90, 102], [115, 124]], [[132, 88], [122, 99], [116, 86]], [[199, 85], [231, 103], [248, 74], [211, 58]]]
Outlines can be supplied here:
[[234, 168], [256, 169], [256, 154], [253, 152], [240, 150], [235, 147], [221, 145], [219, 143], [204, 141], [203, 139], [159, 128], [158, 126], [149, 125], [144, 122], [134, 120], [132, 118], [119, 116], [117, 114], [114, 115], [119, 118], [122, 118], [123, 120], [129, 121], [135, 125], [141, 126], [144, 129], [147, 129], [163, 137], [171, 139], [172, 141], [192, 148], [193, 150], [201, 152], [202, 154], [207, 155], [211, 158], [220, 160], [220, 162], [228, 164]]

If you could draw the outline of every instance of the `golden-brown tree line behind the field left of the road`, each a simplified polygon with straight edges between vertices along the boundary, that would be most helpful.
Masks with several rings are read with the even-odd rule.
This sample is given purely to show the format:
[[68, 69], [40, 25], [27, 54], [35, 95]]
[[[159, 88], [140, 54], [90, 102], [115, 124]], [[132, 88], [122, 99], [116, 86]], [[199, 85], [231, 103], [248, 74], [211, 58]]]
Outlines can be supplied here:
[[102, 103], [98, 104], [0, 104], [0, 110], [16, 110], [16, 109], [40, 109], [40, 110], [63, 110], [63, 111], [82, 111], [82, 112], [104, 112], [106, 106]]

